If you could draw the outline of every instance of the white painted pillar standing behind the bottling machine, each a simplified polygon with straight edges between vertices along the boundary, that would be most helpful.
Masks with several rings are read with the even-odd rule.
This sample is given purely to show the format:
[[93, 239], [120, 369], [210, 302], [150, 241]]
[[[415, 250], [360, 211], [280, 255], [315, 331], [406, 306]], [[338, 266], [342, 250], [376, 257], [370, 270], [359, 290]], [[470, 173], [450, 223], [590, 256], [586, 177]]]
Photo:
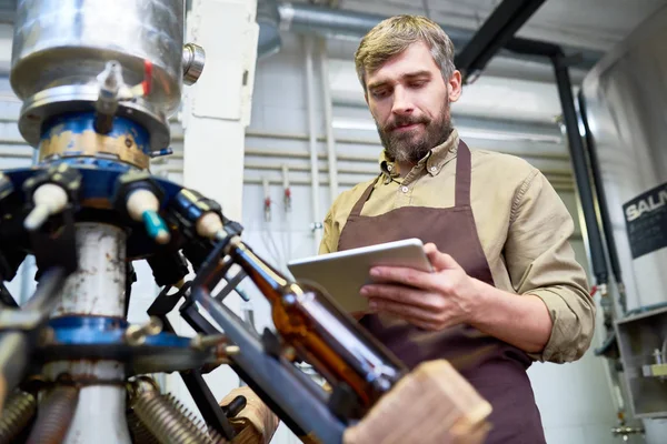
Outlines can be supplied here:
[[[196, 84], [185, 88], [183, 185], [222, 205], [231, 220], [241, 220], [246, 127], [255, 82], [257, 0], [195, 0], [187, 18], [187, 40], [206, 51], [203, 72]], [[240, 300], [227, 304], [240, 313]], [[191, 333], [175, 322], [179, 334]], [[221, 400], [239, 379], [228, 366], [205, 376]], [[169, 375], [167, 390], [195, 410], [178, 375]]]

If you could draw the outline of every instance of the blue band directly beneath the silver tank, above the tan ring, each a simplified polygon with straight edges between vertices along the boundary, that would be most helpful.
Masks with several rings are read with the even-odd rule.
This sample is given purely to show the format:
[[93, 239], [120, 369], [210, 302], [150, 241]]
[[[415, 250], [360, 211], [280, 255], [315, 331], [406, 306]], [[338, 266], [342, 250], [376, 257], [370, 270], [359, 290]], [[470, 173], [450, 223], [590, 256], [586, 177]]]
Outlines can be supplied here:
[[[80, 112], [59, 115], [49, 122], [44, 123], [42, 129], [41, 140], [51, 140], [64, 132], [72, 134], [83, 134], [84, 132], [94, 130], [94, 112]], [[150, 137], [148, 131], [140, 124], [121, 117], [113, 118], [113, 125], [108, 134], [109, 138], [125, 138], [131, 135], [135, 144], [145, 154], [151, 153]]]

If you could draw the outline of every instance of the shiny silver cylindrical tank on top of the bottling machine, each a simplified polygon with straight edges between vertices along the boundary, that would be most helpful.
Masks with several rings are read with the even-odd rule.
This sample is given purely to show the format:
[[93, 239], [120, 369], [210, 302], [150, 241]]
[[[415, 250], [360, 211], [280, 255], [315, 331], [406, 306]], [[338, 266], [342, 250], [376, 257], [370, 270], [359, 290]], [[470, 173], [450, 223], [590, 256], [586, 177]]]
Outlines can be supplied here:
[[121, 103], [121, 113], [130, 110], [147, 125], [151, 144], [165, 148], [166, 117], [181, 100], [183, 19], [183, 0], [20, 0], [10, 81], [24, 102], [23, 137], [34, 144], [44, 119], [93, 103], [108, 61], [121, 64], [131, 85], [142, 81], [149, 60], [151, 93]]

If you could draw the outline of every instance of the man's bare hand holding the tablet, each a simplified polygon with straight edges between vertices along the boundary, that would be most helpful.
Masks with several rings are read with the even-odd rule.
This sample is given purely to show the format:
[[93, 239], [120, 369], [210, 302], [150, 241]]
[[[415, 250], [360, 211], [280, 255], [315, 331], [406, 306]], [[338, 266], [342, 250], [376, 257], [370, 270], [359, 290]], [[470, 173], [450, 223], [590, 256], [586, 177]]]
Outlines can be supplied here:
[[471, 323], [481, 282], [470, 278], [435, 244], [424, 246], [434, 272], [408, 268], [377, 266], [370, 275], [377, 283], [365, 285], [372, 312], [397, 315], [425, 330]]

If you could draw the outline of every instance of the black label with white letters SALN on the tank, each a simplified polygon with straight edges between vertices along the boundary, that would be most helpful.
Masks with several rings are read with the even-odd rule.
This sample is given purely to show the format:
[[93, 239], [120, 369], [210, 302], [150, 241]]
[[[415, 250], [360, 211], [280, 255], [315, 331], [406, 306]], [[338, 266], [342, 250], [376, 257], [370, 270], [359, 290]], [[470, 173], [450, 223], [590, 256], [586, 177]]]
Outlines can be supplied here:
[[667, 183], [623, 205], [633, 259], [667, 246]]

